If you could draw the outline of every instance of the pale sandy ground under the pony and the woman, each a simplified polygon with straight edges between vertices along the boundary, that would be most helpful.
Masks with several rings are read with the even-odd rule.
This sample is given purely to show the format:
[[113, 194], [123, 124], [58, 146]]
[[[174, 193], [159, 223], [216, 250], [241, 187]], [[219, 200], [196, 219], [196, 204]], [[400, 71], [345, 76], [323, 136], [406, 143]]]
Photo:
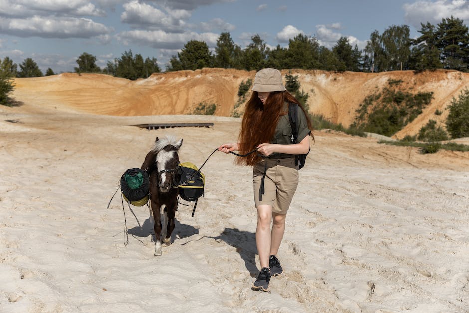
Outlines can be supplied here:
[[[7, 122], [9, 120], [10, 122]], [[129, 125], [210, 121], [212, 128]], [[0, 312], [467, 312], [469, 153], [316, 132], [287, 216], [271, 292], [259, 271], [251, 168], [215, 153], [194, 217], [179, 206], [154, 257], [146, 207], [118, 195], [156, 136], [184, 138], [197, 165], [236, 140], [239, 120], [115, 117], [0, 108]]]

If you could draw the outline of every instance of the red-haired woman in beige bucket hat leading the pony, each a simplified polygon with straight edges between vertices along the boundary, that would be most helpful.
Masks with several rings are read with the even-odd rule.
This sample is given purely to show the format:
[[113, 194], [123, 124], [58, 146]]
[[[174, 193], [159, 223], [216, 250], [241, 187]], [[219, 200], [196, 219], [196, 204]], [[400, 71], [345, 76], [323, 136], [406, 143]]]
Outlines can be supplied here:
[[[252, 289], [268, 291], [271, 275], [283, 272], [277, 259], [285, 231], [285, 218], [298, 185], [298, 165], [295, 154], [309, 151], [311, 121], [282, 84], [280, 71], [265, 68], [258, 71], [249, 101], [246, 103], [238, 143], [226, 143], [218, 150], [239, 151], [247, 157], [237, 157], [236, 163], [252, 165], [254, 202], [257, 208], [255, 241], [261, 271]], [[292, 144], [288, 120], [289, 103], [297, 103], [298, 143]], [[272, 229], [270, 222], [273, 221]]]

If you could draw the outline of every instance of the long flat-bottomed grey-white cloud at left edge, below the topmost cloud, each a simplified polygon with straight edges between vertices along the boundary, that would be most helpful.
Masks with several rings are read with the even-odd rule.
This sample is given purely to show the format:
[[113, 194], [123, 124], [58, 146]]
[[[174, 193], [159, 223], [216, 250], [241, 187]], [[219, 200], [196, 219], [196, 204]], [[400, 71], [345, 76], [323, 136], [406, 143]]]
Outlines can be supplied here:
[[19, 37], [91, 38], [108, 34], [113, 29], [87, 18], [33, 16], [26, 19], [1, 19], [0, 31]]

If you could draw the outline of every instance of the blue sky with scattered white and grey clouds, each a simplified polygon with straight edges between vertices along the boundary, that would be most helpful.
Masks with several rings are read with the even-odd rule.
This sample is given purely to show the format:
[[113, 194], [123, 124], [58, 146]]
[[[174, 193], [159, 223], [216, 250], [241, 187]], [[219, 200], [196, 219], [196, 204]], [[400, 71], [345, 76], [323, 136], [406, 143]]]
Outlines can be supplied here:
[[168, 60], [190, 40], [213, 51], [222, 32], [245, 48], [258, 34], [271, 48], [302, 33], [331, 48], [341, 36], [363, 49], [374, 30], [454, 16], [469, 21], [469, 0], [0, 0], [0, 59], [32, 58], [45, 72], [73, 71], [83, 53], [105, 67], [125, 51]]

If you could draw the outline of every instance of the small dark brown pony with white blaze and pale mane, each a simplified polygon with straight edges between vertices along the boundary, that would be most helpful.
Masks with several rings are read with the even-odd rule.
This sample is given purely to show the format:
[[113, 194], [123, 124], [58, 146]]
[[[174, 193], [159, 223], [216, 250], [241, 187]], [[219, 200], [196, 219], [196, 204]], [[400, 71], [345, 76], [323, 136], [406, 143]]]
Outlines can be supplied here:
[[[174, 136], [156, 137], [153, 149], [147, 153], [141, 169], [150, 178], [150, 223], [154, 223], [155, 256], [161, 256], [161, 240], [171, 244], [174, 216], [178, 209], [178, 150], [183, 139]], [[161, 221], [163, 211], [163, 221]]]

